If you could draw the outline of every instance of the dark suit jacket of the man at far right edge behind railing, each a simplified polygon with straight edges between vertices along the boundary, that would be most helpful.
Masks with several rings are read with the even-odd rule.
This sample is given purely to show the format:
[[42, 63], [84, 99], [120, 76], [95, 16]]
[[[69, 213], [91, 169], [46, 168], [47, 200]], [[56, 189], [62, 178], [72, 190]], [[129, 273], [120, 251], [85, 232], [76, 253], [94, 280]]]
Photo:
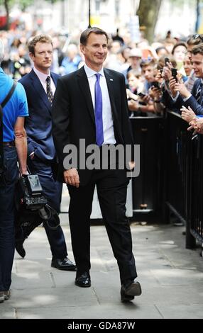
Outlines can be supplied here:
[[191, 91], [192, 96], [190, 96], [187, 101], [183, 101], [182, 96], [179, 95], [177, 101], [173, 104], [173, 106], [175, 106], [175, 108], [177, 108], [178, 110], [180, 110], [182, 106], [185, 106], [186, 108], [190, 106], [194, 113], [196, 113], [197, 115], [203, 115], [203, 86], [199, 101], [197, 102], [196, 99], [197, 89], [199, 89], [199, 84], [201, 83], [201, 81], [201, 79], [197, 79], [196, 81], [194, 81], [194, 85]]

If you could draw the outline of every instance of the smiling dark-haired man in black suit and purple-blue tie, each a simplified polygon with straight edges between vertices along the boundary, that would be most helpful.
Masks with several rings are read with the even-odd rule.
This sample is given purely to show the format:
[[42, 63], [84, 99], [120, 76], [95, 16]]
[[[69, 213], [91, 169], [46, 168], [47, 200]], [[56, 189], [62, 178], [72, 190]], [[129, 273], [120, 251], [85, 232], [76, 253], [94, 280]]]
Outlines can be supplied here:
[[[99, 28], [84, 30], [80, 38], [84, 67], [58, 79], [53, 101], [53, 139], [63, 166], [62, 176], [70, 193], [70, 231], [77, 265], [75, 285], [90, 287], [90, 215], [95, 184], [101, 213], [119, 265], [121, 300], [133, 300], [141, 295], [132, 253], [131, 230], [126, 220], [126, 169], [83, 167], [94, 145], [102, 157], [103, 147], [130, 145], [133, 137], [128, 120], [126, 89], [123, 74], [103, 69], [107, 55], [108, 35]], [[84, 146], [80, 147], [81, 140]], [[67, 167], [66, 145], [73, 145], [79, 166]], [[98, 151], [97, 149], [97, 151]], [[73, 149], [74, 150], [74, 149]], [[82, 155], [84, 154], [84, 158]], [[85, 160], [85, 161], [84, 161]], [[129, 161], [129, 162], [133, 162]], [[88, 163], [87, 163], [88, 164]]]

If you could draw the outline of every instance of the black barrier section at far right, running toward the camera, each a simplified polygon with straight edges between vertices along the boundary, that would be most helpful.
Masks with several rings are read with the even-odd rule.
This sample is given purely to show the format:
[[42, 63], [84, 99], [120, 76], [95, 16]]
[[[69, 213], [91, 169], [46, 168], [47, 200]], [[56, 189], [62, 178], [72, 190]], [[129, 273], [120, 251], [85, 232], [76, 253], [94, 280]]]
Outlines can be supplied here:
[[203, 243], [203, 136], [192, 136], [179, 114], [167, 112], [165, 218], [174, 213], [186, 225], [186, 247]]

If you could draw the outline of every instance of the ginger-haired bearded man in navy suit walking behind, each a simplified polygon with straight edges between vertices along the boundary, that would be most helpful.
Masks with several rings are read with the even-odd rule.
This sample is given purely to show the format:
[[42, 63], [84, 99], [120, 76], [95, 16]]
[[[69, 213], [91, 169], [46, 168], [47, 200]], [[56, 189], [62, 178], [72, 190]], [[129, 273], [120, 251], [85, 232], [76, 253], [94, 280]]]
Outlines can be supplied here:
[[[51, 120], [53, 94], [59, 76], [50, 72], [53, 44], [48, 35], [37, 35], [28, 44], [28, 48], [34, 67], [20, 80], [26, 90], [30, 115], [26, 121], [28, 166], [33, 173], [38, 174], [48, 204], [59, 213], [62, 183], [55, 180], [57, 162]], [[51, 220], [49, 224], [52, 224]], [[51, 266], [75, 271], [75, 264], [67, 258], [62, 228], [58, 226], [53, 230], [47, 223], [44, 223], [44, 227], [53, 255]], [[25, 256], [21, 242], [16, 243], [16, 250]]]

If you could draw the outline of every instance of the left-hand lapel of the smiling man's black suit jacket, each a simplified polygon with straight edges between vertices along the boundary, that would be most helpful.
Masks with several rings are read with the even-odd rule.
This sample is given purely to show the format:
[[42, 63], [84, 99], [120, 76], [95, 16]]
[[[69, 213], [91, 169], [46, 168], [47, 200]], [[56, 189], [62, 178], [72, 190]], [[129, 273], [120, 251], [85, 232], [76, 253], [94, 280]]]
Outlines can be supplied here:
[[79, 88], [81, 89], [82, 94], [84, 95], [84, 98], [87, 102], [87, 108], [88, 108], [89, 114], [92, 118], [93, 123], [95, 124], [94, 108], [93, 108], [93, 104], [92, 104], [92, 96], [91, 96], [91, 92], [90, 92], [90, 89], [89, 89], [89, 82], [88, 82], [88, 79], [87, 79], [87, 75], [84, 71], [84, 67], [79, 69], [79, 71], [77, 72], [77, 79], [78, 79], [78, 83], [79, 83]]

